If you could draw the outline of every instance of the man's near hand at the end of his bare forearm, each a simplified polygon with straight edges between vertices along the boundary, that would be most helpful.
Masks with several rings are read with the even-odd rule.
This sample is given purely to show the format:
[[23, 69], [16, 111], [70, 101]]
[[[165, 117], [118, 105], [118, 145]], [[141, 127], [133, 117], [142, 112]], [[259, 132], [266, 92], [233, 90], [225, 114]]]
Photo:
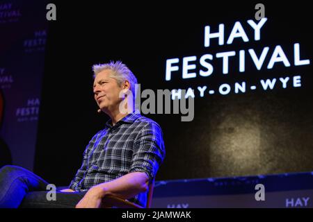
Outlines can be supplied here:
[[103, 197], [104, 191], [101, 187], [91, 187], [75, 208], [100, 208]]

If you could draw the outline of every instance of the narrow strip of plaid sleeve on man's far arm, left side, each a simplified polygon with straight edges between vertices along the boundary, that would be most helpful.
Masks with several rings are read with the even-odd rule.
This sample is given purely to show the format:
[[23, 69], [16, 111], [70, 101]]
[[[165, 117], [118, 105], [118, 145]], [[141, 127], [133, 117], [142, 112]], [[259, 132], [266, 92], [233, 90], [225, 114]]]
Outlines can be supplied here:
[[83, 179], [83, 176], [85, 176], [85, 174], [86, 174], [86, 170], [88, 167], [89, 153], [90, 153], [90, 150], [93, 148], [93, 145], [95, 144], [95, 141], [97, 139], [97, 135], [99, 134], [99, 132], [93, 136], [93, 138], [90, 140], [89, 144], [86, 146], [85, 151], [83, 151], [83, 163], [81, 164], [81, 168], [77, 171], [73, 180], [70, 182], [70, 186], [69, 186], [69, 188], [74, 190], [74, 191], [77, 190], [79, 183]]

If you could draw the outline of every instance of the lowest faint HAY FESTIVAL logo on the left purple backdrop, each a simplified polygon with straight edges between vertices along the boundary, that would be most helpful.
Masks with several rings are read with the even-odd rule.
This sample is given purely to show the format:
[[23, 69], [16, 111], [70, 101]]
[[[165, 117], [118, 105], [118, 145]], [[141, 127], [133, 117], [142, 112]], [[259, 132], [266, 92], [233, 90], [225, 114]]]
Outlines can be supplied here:
[[18, 122], [37, 121], [39, 114], [40, 100], [31, 98], [26, 101], [25, 107], [17, 108], [15, 115]]

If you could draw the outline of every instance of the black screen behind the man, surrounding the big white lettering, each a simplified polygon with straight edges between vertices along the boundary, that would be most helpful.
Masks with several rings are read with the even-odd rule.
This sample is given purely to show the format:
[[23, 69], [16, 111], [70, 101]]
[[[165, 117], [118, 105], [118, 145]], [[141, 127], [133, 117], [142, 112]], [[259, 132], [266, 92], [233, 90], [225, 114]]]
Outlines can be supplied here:
[[[180, 115], [147, 114], [161, 125], [166, 144], [166, 160], [157, 180], [312, 171], [312, 65], [293, 65], [296, 42], [300, 42], [300, 58], [312, 62], [308, 3], [263, 2], [268, 21], [257, 42], [246, 21], [254, 19], [258, 2], [55, 3], [57, 20], [49, 22], [38, 123], [34, 167], [38, 175], [68, 185], [81, 166], [84, 148], [108, 119], [97, 114], [91, 67], [110, 60], [127, 64], [142, 89], [196, 89], [301, 76], [298, 88], [278, 85], [268, 91], [196, 96], [191, 122], [181, 122]], [[236, 21], [241, 22], [250, 42], [237, 38], [233, 44], [218, 46], [211, 40], [212, 46], [204, 48], [204, 26], [217, 31], [218, 24], [225, 24], [226, 42]], [[291, 67], [278, 62], [266, 69], [276, 45], [282, 46]], [[247, 51], [255, 49], [259, 56], [264, 46], [270, 51], [257, 71]], [[216, 71], [207, 78], [182, 80], [177, 72], [171, 81], [165, 80], [168, 58], [179, 58], [182, 67], [185, 56], [200, 58], [223, 51], [238, 55], [241, 49], [246, 50], [244, 73], [239, 73], [236, 57], [227, 76], [221, 74], [221, 63], [216, 60]]]

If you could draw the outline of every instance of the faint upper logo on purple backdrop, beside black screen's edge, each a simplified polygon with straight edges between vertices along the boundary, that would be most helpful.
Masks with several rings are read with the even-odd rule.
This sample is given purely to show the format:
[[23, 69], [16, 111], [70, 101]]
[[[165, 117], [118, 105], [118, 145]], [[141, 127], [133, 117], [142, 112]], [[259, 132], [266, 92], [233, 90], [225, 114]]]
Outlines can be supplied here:
[[40, 30], [33, 33], [33, 37], [24, 40], [24, 51], [26, 53], [43, 52], [47, 40], [47, 31]]

